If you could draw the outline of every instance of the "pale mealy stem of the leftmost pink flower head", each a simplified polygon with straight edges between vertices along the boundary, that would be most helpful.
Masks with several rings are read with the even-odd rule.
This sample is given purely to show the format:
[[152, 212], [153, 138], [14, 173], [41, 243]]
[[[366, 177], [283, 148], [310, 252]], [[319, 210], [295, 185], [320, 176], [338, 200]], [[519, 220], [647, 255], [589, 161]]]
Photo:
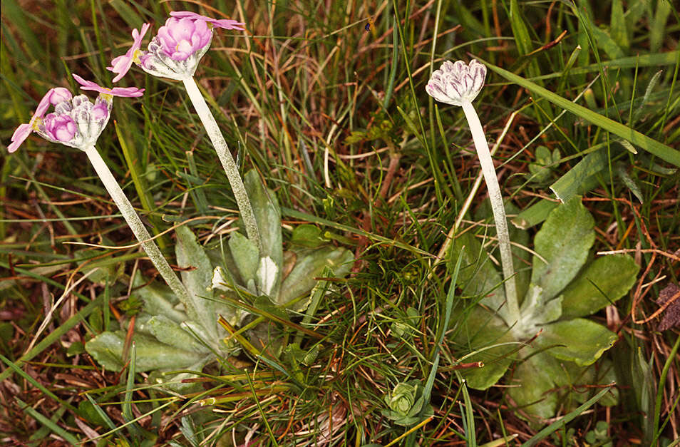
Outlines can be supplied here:
[[115, 202], [115, 205], [118, 206], [120, 214], [122, 214], [125, 218], [125, 222], [128, 222], [130, 230], [133, 231], [135, 237], [140, 242], [140, 245], [148, 255], [149, 259], [151, 262], [153, 262], [156, 269], [158, 269], [160, 276], [165, 279], [165, 282], [168, 283], [168, 286], [170, 286], [172, 292], [174, 292], [177, 298], [180, 299], [180, 302], [184, 304], [189, 317], [194, 319], [195, 312], [187, 288], [184, 286], [184, 284], [182, 284], [180, 279], [177, 277], [177, 274], [175, 274], [175, 272], [172, 270], [172, 267], [170, 267], [168, 261], [165, 260], [165, 257], [163, 257], [163, 253], [160, 252], [158, 246], [155, 244], [155, 242], [153, 242], [153, 240], [151, 240], [151, 235], [146, 230], [146, 227], [140, 220], [137, 212], [135, 212], [130, 200], [128, 200], [128, 197], [125, 196], [125, 192], [120, 189], [118, 182], [113, 177], [113, 174], [111, 174], [111, 171], [109, 170], [106, 163], [104, 163], [101, 155], [99, 155], [97, 148], [94, 146], [89, 146], [88, 148], [85, 148], [84, 151], [88, 155], [90, 163], [92, 163], [97, 175], [99, 175], [99, 178], [101, 178], [101, 181], [113, 199], [113, 202]]

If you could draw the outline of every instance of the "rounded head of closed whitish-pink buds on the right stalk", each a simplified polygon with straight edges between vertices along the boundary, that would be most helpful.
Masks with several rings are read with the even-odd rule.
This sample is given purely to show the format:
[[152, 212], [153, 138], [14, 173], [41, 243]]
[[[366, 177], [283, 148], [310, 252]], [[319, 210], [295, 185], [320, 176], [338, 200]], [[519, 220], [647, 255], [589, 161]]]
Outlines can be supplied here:
[[425, 90], [441, 103], [463, 106], [477, 98], [485, 77], [486, 66], [475, 59], [469, 65], [463, 61], [445, 61], [432, 73]]

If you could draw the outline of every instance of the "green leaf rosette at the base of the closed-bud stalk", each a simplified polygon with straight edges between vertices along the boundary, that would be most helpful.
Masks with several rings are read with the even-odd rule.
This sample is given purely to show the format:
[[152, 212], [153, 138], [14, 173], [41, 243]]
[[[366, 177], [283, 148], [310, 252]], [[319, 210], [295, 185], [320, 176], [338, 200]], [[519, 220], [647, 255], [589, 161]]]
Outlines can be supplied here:
[[[526, 232], [517, 232], [518, 240], [527, 240]], [[484, 364], [462, 373], [470, 387], [488, 389], [516, 360], [505, 382], [511, 385], [508, 396], [528, 415], [550, 418], [560, 406], [569, 409], [589, 397], [572, 393], [575, 386], [613, 381], [611, 370], [594, 369], [593, 364], [612, 347], [617, 334], [584, 317], [626, 294], [639, 267], [627, 255], [589, 260], [594, 239], [594, 220], [580, 197], [550, 212], [534, 238], [530, 274], [517, 274], [517, 289], [523, 294], [517, 320], [503, 306], [500, 274], [482, 244], [471, 232], [455, 239], [454, 259], [463, 257], [457, 284], [463, 297], [478, 302], [465, 309], [468, 315], [460, 319], [464, 323], [453, 330], [459, 361]], [[517, 247], [515, 255], [528, 264], [529, 257], [520, 251]]]

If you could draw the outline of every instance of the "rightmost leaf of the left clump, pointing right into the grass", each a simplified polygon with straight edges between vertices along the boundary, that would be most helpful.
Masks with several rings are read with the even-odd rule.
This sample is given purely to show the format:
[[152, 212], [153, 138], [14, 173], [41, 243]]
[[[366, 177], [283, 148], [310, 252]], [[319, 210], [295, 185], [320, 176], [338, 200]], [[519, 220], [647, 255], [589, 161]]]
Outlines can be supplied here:
[[[295, 267], [284, 279], [281, 292], [275, 302], [282, 306], [308, 293], [317, 282], [314, 278], [320, 277], [326, 267], [332, 270], [335, 277], [344, 277], [349, 273], [352, 262], [354, 262], [354, 255], [344, 248], [321, 247], [299, 252]], [[301, 300], [289, 309], [299, 311], [306, 308], [308, 304], [309, 300]]]

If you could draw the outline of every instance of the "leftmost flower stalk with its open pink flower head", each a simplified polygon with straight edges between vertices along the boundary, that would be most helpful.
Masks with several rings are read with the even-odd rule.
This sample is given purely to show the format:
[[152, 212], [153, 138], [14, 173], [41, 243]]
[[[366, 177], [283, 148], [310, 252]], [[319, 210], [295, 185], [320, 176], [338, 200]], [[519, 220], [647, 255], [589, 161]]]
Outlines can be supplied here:
[[[190, 307], [191, 302], [186, 287], [180, 282], [158, 246], [151, 240], [151, 235], [144, 227], [130, 200], [125, 196], [125, 192], [120, 189], [118, 182], [116, 182], [95, 147], [99, 135], [101, 135], [110, 118], [113, 97], [142, 96], [143, 89], [134, 87], [105, 88], [92, 81], [86, 81], [76, 74], [73, 75], [73, 78], [81, 84], [83, 90], [93, 90], [100, 93], [96, 101], [91, 103], [85, 95], [73, 96], [66, 88], [50, 89], [38, 105], [31, 122], [19, 125], [19, 128], [12, 135], [12, 143], [8, 146], [9, 152], [17, 150], [19, 145], [32, 132], [35, 132], [53, 143], [71, 146], [71, 148], [77, 148], [86, 153], [104, 187], [115, 205], [118, 206], [125, 222], [128, 223], [130, 230], [133, 231], [151, 262], [158, 269], [165, 282], [168, 283], [172, 292], [177, 295], [177, 298], [185, 306]], [[54, 112], [44, 115], [50, 104], [54, 106]], [[192, 309], [187, 308], [187, 312], [192, 312]]]

